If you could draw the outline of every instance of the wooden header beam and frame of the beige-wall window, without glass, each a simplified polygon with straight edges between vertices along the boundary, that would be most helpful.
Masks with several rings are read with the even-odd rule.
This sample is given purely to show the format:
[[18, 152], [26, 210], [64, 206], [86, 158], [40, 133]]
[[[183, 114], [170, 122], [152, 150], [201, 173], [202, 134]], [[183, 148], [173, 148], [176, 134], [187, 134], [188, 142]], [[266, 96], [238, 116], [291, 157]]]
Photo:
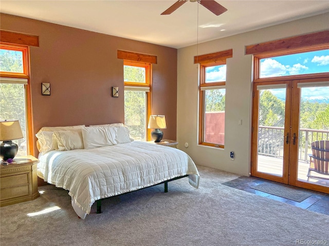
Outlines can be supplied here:
[[199, 63], [199, 132], [198, 132], [198, 145], [215, 147], [224, 149], [224, 145], [212, 144], [204, 141], [204, 111], [205, 111], [205, 91], [201, 88], [213, 87], [213, 86], [225, 86], [226, 81], [215, 81], [206, 83], [206, 68], [213, 66], [226, 65], [226, 59], [233, 57], [233, 50], [225, 50], [216, 53], [194, 56], [194, 64]]

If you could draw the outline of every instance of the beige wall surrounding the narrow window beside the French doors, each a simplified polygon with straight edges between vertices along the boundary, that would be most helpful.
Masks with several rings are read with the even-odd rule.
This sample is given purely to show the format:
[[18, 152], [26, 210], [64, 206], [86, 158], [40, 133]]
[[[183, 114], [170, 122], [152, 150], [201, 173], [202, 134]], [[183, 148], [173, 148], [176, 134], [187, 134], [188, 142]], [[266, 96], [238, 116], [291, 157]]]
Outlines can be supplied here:
[[[296, 20], [264, 29], [216, 39], [178, 50], [177, 140], [197, 165], [208, 166], [240, 175], [250, 172], [252, 55], [245, 46], [329, 29], [329, 14]], [[198, 69], [193, 56], [233, 49], [227, 59], [225, 149], [197, 145]], [[239, 125], [239, 120], [242, 125]], [[184, 143], [189, 144], [188, 148]], [[230, 152], [234, 151], [234, 161]]]

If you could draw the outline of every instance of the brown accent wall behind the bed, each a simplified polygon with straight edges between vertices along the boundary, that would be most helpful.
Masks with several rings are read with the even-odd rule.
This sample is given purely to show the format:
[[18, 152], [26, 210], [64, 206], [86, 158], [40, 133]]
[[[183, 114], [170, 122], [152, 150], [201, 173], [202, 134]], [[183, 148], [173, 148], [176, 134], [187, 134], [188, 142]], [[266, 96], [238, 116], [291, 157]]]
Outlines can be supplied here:
[[[13, 15], [0, 18], [3, 30], [39, 36], [40, 46], [30, 47], [33, 135], [43, 126], [124, 122], [123, 60], [117, 50], [127, 50], [157, 56], [151, 113], [166, 115], [164, 137], [176, 139], [176, 49]], [[50, 96], [41, 94], [41, 83], [50, 83]], [[113, 86], [119, 87], [118, 98], [112, 97]]]

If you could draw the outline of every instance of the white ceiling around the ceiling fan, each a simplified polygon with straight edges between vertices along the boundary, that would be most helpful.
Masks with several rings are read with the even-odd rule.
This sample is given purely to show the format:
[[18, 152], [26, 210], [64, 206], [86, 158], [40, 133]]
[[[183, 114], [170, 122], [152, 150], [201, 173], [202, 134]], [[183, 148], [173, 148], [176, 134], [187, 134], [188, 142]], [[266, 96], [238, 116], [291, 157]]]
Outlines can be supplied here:
[[188, 2], [170, 15], [160, 15], [175, 0], [1, 0], [0, 12], [172, 48], [329, 12], [327, 0], [216, 1], [228, 11], [216, 16]]

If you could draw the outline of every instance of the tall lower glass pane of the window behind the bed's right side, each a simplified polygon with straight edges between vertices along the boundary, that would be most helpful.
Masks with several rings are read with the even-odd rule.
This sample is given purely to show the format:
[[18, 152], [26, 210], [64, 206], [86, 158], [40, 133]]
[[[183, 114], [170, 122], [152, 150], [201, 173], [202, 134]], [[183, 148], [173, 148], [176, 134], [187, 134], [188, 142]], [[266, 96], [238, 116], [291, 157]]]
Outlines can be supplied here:
[[147, 95], [143, 91], [124, 91], [124, 124], [134, 140], [145, 141]]

